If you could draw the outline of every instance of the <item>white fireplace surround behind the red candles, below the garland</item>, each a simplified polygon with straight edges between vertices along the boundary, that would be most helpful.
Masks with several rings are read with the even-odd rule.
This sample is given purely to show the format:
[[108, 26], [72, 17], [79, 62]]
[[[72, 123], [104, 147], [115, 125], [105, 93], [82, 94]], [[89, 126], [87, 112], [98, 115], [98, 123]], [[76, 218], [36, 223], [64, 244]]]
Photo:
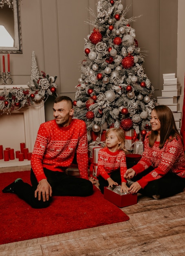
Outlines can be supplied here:
[[[0, 92], [3, 89], [4, 85], [0, 85]], [[29, 89], [27, 85], [7, 85], [6, 88], [13, 87], [23, 87]], [[32, 152], [33, 146], [35, 144], [35, 139], [37, 136], [37, 131], [40, 124], [45, 122], [45, 113], [44, 113], [44, 104], [43, 102], [34, 103], [33, 106], [27, 106], [20, 108], [10, 113], [0, 112], [0, 145], [3, 145], [5, 148], [14, 148], [20, 150], [20, 143], [24, 142], [26, 148], [29, 149], [29, 152]], [[18, 161], [9, 160], [4, 161], [0, 160], [0, 167], [9, 167], [9, 166], [21, 166], [29, 165], [30, 161]]]

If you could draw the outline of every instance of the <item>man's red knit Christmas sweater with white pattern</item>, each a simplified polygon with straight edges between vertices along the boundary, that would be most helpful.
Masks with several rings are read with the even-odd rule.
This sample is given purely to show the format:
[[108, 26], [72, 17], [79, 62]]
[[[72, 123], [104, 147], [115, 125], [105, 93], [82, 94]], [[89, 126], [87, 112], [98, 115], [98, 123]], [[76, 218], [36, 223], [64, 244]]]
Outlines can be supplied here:
[[31, 167], [39, 182], [46, 179], [43, 167], [51, 171], [65, 172], [77, 153], [81, 178], [88, 179], [88, 142], [86, 123], [72, 119], [62, 127], [55, 120], [40, 125], [31, 157]]

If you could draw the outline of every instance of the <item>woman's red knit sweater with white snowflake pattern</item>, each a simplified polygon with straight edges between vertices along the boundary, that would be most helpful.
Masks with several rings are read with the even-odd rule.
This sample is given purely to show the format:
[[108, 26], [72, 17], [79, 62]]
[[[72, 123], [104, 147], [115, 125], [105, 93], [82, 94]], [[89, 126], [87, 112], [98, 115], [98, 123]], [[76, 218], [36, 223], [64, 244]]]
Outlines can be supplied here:
[[150, 148], [150, 133], [148, 132], [145, 137], [145, 148], [141, 160], [132, 168], [136, 174], [141, 173], [150, 166], [153, 166], [154, 170], [137, 182], [144, 188], [148, 182], [163, 177], [169, 171], [185, 178], [185, 157], [181, 137], [177, 136], [172, 141], [167, 140], [161, 149], [158, 141]]

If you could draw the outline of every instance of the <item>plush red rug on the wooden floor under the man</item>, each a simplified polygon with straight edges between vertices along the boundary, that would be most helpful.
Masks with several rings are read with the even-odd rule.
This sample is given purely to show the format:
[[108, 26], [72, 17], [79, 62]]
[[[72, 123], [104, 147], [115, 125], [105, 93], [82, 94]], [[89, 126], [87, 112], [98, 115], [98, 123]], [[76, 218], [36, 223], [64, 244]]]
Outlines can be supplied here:
[[17, 195], [2, 193], [18, 177], [30, 183], [29, 175], [30, 171], [0, 173], [0, 244], [129, 220], [95, 186], [89, 197], [55, 196], [45, 209], [33, 209]]

